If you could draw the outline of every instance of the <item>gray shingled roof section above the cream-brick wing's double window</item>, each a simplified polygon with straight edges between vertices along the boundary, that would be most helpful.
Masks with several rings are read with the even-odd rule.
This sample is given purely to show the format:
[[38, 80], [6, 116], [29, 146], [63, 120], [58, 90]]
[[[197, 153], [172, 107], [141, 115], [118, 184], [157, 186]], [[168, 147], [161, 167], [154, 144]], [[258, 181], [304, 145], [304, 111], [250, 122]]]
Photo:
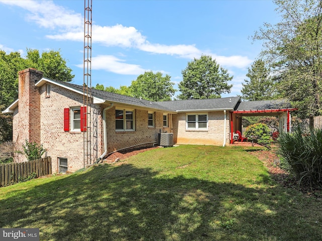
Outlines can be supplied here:
[[158, 104], [180, 112], [189, 110], [233, 110], [239, 101], [240, 97], [226, 97], [217, 99], [173, 100], [158, 102]]

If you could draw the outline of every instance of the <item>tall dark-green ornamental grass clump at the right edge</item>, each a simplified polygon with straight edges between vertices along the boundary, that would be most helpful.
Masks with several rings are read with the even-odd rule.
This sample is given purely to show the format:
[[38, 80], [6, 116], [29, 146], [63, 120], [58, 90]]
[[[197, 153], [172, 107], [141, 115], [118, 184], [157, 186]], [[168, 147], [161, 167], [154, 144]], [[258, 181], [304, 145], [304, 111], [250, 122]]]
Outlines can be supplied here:
[[298, 127], [293, 133], [281, 133], [278, 154], [281, 167], [294, 174], [299, 184], [322, 187], [322, 129], [303, 133]]

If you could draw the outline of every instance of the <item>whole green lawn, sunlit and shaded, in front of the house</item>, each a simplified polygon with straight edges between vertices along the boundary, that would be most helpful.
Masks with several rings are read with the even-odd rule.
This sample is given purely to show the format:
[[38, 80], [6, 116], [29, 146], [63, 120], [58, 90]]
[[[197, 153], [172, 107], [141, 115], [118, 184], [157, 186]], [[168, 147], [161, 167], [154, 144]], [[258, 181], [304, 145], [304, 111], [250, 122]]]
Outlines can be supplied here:
[[0, 188], [0, 227], [40, 240], [322, 240], [322, 203], [240, 147], [182, 145]]

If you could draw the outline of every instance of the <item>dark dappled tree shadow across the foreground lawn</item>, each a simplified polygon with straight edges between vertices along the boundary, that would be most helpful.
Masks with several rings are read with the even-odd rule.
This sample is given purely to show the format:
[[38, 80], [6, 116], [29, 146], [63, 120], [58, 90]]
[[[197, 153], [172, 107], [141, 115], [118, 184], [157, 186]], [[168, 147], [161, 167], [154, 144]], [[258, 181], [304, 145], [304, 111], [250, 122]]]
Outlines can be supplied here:
[[1, 200], [0, 226], [39, 227], [40, 240], [321, 239], [278, 188], [101, 165]]

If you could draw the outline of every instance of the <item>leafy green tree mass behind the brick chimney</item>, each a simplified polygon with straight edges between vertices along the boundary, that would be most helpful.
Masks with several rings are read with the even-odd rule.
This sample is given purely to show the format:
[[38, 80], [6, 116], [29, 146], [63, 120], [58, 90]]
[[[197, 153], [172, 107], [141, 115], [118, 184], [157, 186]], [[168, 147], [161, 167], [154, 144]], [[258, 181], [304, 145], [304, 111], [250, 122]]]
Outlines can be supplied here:
[[[74, 77], [59, 51], [43, 52], [40, 57], [38, 50], [27, 49], [26, 58], [22, 58], [19, 52], [7, 54], [0, 50], [0, 111], [18, 98], [18, 72], [30, 67], [52, 79], [71, 81]], [[0, 143], [12, 138], [11, 122], [11, 115], [0, 112]]]

